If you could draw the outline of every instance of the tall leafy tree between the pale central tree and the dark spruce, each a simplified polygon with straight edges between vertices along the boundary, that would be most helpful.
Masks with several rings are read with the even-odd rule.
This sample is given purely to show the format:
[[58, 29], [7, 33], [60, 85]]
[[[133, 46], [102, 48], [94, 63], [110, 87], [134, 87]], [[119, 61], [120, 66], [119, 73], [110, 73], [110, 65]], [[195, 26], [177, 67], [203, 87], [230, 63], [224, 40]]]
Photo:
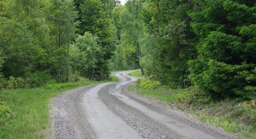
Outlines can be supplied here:
[[[151, 47], [158, 52], [151, 58], [155, 60], [156, 68], [148, 69], [148, 73], [173, 88], [190, 85], [186, 62], [193, 59], [194, 48], [191, 44], [194, 35], [186, 12], [193, 7], [194, 4], [188, 0], [149, 0], [142, 10], [145, 30], [150, 34], [145, 37], [155, 38]], [[147, 47], [143, 49], [143, 52], [150, 51]]]

